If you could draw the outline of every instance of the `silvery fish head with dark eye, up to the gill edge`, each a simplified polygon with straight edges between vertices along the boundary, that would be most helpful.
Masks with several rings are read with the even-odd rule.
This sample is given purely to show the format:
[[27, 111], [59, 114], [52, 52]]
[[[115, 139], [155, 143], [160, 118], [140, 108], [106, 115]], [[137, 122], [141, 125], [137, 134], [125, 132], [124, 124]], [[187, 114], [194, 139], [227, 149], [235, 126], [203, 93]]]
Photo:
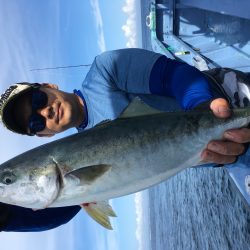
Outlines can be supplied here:
[[3, 203], [43, 209], [53, 203], [59, 191], [60, 175], [56, 164], [49, 159], [16, 157], [0, 166], [0, 201]]

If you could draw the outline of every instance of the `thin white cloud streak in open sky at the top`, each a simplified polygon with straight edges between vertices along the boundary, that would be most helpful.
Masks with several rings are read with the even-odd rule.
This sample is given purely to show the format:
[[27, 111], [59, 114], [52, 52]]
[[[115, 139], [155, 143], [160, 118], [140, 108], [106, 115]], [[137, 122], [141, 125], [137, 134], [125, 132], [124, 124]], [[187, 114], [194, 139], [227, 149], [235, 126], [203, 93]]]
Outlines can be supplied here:
[[92, 11], [95, 16], [96, 21], [96, 28], [97, 28], [97, 35], [98, 35], [98, 46], [101, 52], [106, 51], [106, 43], [104, 38], [104, 31], [103, 31], [103, 21], [102, 15], [100, 10], [100, 5], [98, 0], [91, 0], [90, 1]]

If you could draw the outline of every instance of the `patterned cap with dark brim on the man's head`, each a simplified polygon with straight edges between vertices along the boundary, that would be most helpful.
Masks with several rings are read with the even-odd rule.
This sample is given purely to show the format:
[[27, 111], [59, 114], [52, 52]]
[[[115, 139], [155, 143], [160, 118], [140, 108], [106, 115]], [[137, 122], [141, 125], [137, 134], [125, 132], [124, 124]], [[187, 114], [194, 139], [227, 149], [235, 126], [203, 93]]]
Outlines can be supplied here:
[[40, 87], [38, 83], [21, 82], [11, 85], [0, 97], [0, 121], [12, 132], [29, 135], [26, 129], [20, 125], [14, 115], [16, 103], [20, 98], [33, 88]]

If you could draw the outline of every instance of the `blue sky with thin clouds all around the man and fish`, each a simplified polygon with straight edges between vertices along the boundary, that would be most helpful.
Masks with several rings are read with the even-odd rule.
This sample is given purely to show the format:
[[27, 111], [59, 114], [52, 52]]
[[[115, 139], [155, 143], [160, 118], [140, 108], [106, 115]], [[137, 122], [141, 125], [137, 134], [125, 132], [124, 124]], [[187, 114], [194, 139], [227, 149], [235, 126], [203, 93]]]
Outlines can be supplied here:
[[[88, 64], [105, 50], [140, 47], [140, 32], [136, 31], [139, 19], [134, 19], [139, 10], [133, 2], [0, 0], [0, 92], [21, 81], [57, 83], [63, 90], [72, 91], [80, 86], [88, 68], [30, 69]], [[2, 126], [0, 133], [0, 162], [60, 137], [19, 136]], [[101, 228], [81, 211], [70, 223], [48, 232], [1, 233], [1, 250], [138, 249], [140, 209], [135, 207], [135, 195], [111, 203], [118, 215], [113, 232]]]

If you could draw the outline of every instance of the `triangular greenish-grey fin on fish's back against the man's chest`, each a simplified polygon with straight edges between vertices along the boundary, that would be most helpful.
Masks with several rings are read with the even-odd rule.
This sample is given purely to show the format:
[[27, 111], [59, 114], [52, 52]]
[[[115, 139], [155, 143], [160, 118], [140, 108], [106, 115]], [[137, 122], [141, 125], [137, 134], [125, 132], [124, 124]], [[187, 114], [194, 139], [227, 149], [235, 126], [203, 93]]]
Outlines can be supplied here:
[[163, 111], [159, 111], [148, 106], [139, 97], [133, 99], [133, 101], [128, 105], [128, 107], [122, 112], [119, 118], [129, 118], [135, 116], [153, 115], [160, 114]]

